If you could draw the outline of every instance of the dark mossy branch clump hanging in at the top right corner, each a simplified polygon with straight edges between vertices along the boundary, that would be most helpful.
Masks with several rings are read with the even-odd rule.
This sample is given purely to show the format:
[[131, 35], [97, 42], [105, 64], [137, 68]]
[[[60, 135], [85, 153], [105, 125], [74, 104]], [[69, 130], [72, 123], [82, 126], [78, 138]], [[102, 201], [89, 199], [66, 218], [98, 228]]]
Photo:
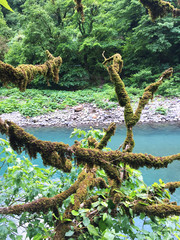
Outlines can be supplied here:
[[159, 17], [164, 17], [168, 13], [174, 12], [174, 7], [171, 3], [162, 0], [140, 0], [145, 8], [148, 9], [152, 21]]

